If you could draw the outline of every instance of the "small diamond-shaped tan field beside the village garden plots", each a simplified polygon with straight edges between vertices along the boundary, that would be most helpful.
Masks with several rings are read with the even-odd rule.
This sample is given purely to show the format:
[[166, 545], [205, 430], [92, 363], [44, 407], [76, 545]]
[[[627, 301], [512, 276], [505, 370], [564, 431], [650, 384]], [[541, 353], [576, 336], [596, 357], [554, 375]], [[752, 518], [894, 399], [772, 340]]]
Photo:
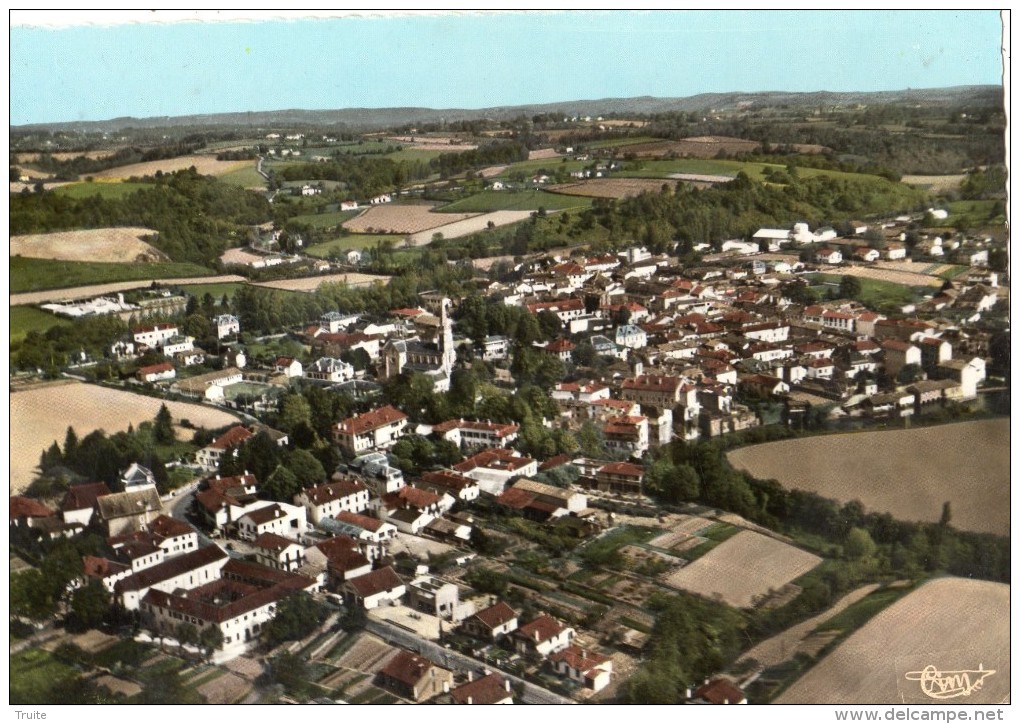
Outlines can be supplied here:
[[736, 608], [755, 606], [821, 563], [818, 556], [743, 530], [662, 581]]

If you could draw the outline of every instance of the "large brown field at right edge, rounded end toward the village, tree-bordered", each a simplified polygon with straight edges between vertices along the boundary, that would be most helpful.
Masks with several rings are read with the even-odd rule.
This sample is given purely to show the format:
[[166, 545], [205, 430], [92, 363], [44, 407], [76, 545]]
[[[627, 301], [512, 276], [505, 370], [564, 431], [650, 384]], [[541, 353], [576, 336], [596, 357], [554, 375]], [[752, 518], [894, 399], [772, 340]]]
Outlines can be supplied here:
[[942, 503], [961, 530], [1010, 532], [1010, 421], [804, 437], [741, 448], [735, 468], [869, 511], [933, 523]]

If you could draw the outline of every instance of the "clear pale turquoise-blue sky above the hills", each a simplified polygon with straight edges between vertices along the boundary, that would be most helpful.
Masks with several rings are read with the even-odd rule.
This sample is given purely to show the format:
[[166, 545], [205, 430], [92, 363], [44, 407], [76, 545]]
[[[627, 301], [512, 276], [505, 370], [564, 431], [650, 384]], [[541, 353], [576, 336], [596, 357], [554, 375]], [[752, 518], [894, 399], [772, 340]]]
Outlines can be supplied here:
[[[66, 15], [39, 14], [49, 24]], [[117, 19], [97, 12], [89, 18]], [[1002, 83], [993, 10], [496, 12], [46, 28], [22, 21], [15, 13], [10, 28], [14, 125]]]

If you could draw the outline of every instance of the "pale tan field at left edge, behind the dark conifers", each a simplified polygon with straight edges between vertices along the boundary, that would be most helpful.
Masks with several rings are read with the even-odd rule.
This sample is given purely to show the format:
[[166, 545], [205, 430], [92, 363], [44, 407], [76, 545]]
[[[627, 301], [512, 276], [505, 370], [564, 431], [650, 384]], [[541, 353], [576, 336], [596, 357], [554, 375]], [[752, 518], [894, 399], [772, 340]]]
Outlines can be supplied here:
[[[137, 426], [153, 419], [162, 403], [158, 398], [78, 381], [11, 393], [11, 495], [18, 495], [32, 482], [40, 454], [54, 441], [62, 445], [68, 425], [79, 439], [97, 429], [113, 434], [126, 430], [130, 424]], [[199, 427], [215, 428], [238, 421], [234, 415], [203, 405], [167, 402], [166, 406], [175, 421], [188, 418]]]

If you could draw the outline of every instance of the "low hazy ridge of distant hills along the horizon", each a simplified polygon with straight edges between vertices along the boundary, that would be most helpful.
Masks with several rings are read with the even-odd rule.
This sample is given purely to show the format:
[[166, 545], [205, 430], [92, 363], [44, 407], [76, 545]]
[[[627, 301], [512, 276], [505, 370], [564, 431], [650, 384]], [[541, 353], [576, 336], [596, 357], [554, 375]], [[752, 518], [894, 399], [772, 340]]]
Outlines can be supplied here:
[[974, 107], [1003, 104], [1003, 89], [999, 86], [957, 86], [954, 88], [908, 89], [874, 93], [703, 93], [686, 98], [603, 98], [589, 101], [563, 101], [493, 108], [344, 108], [338, 110], [275, 110], [241, 113], [210, 113], [204, 115], [157, 116], [151, 118], [120, 117], [99, 121], [35, 123], [11, 126], [11, 131], [79, 131], [117, 132], [124, 128], [159, 128], [167, 126], [249, 125], [256, 128], [328, 126], [345, 130], [370, 131], [407, 123], [439, 121], [508, 120], [520, 115], [560, 112], [564, 115], [605, 116], [609, 114], [650, 114], [669, 111], [768, 107], [812, 107], [912, 103], [924, 105], [971, 105]]

